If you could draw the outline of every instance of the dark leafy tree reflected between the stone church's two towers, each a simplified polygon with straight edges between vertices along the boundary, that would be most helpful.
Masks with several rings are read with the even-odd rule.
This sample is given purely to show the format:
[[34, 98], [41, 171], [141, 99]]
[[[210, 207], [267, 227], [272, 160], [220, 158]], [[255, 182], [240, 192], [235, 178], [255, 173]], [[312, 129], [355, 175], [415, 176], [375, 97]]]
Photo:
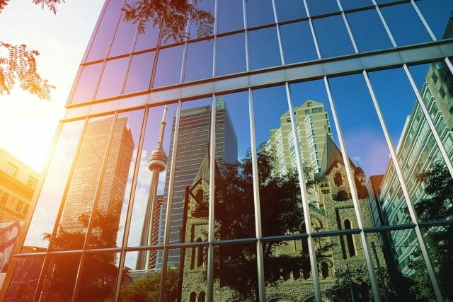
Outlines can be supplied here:
[[[285, 175], [274, 173], [272, 152], [260, 148], [258, 181], [260, 191], [261, 228], [265, 236], [297, 233], [303, 225], [302, 199], [296, 171]], [[307, 179], [309, 171], [307, 169]], [[309, 187], [313, 185], [310, 181]], [[236, 163], [227, 164], [221, 183], [216, 182], [214, 215], [216, 236], [223, 240], [255, 238], [255, 216], [253, 208], [253, 169], [251, 153]], [[287, 243], [268, 242], [263, 245], [265, 284], [276, 285], [282, 275], [291, 271], [310, 274], [309, 255], [305, 250], [296, 255], [279, 255], [276, 250]], [[323, 252], [319, 250], [319, 260]], [[241, 300], [258, 300], [256, 281], [256, 245], [226, 245], [219, 247], [215, 260], [214, 278], [221, 286], [234, 289]]]

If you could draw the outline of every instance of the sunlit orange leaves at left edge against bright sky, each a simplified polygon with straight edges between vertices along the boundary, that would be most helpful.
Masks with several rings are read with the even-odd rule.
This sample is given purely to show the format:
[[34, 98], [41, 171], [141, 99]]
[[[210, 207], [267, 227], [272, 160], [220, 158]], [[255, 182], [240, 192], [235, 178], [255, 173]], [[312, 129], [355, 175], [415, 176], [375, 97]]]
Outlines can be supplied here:
[[36, 56], [39, 52], [29, 50], [26, 45], [11, 45], [0, 42], [0, 53], [6, 50], [7, 56], [0, 57], [0, 94], [9, 94], [20, 83], [20, 87], [38, 98], [50, 99], [50, 89], [55, 88], [47, 80], [41, 79], [36, 71]]

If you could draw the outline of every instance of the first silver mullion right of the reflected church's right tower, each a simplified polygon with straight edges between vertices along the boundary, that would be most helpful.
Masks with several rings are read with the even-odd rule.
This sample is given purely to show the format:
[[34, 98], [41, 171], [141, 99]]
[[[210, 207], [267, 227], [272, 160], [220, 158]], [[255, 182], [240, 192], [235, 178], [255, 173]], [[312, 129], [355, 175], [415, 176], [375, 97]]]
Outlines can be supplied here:
[[408, 207], [409, 216], [411, 216], [412, 223], [415, 224], [415, 228], [414, 228], [415, 235], [417, 236], [418, 244], [420, 245], [420, 250], [422, 252], [423, 259], [425, 260], [425, 265], [428, 269], [428, 274], [430, 275], [432, 288], [435, 291], [437, 300], [443, 301], [442, 296], [440, 294], [439, 284], [437, 283], [437, 279], [435, 277], [435, 273], [434, 273], [434, 270], [432, 269], [430, 258], [428, 256], [428, 250], [426, 249], [425, 240], [423, 239], [422, 233], [420, 231], [420, 226], [418, 226], [418, 217], [417, 217], [417, 214], [415, 213], [415, 209], [411, 202], [411, 197], [409, 195], [408, 188], [406, 186], [406, 181], [403, 178], [403, 173], [401, 172], [402, 170], [401, 170], [401, 166], [399, 165], [399, 162], [398, 162], [398, 157], [396, 156], [396, 152], [395, 152], [393, 143], [391, 142], [389, 131], [388, 131], [385, 121], [384, 121], [384, 116], [382, 115], [381, 109], [379, 108], [379, 103], [377, 101], [377, 98], [376, 98], [376, 95], [372, 88], [372, 85], [369, 81], [367, 71], [365, 71], [365, 70], [363, 71], [363, 76], [365, 77], [365, 81], [367, 82], [368, 91], [373, 100], [374, 109], [376, 109], [377, 116], [379, 118], [379, 123], [381, 124], [382, 131], [384, 132], [384, 137], [385, 137], [385, 140], [387, 143], [387, 147], [389, 148], [389, 151], [390, 151], [391, 161], [394, 164], [396, 175], [398, 176], [398, 180], [401, 185], [401, 190], [403, 191], [404, 199], [406, 199], [406, 206]]

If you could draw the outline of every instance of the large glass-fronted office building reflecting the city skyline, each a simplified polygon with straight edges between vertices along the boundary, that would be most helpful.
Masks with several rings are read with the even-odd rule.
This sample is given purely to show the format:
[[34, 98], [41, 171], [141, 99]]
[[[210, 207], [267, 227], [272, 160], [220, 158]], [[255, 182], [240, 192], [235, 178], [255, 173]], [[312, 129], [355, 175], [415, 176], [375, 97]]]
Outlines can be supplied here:
[[452, 301], [452, 10], [106, 0], [1, 298]]

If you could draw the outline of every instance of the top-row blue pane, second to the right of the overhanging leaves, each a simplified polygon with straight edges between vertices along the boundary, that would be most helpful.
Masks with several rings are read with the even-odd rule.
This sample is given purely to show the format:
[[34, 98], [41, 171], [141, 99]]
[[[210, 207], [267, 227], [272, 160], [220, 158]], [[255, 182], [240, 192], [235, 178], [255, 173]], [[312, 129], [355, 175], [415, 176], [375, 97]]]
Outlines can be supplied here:
[[275, 23], [272, 0], [247, 0], [247, 27]]

